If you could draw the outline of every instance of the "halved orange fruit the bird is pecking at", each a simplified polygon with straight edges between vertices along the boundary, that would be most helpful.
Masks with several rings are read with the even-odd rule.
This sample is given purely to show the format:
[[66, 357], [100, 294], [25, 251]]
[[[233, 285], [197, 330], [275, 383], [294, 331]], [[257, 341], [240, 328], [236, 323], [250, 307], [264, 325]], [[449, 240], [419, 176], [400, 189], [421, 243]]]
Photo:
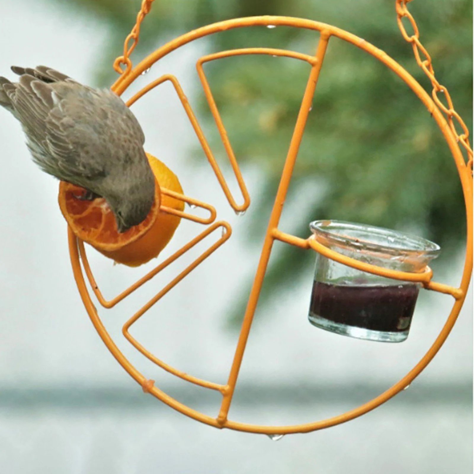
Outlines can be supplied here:
[[151, 260], [168, 244], [181, 218], [160, 211], [160, 205], [183, 210], [184, 202], [164, 195], [160, 187], [182, 194], [176, 175], [160, 160], [146, 154], [155, 174], [155, 202], [146, 219], [120, 234], [117, 222], [105, 199], [81, 201], [85, 189], [61, 181], [59, 207], [76, 237], [117, 263], [138, 266]]

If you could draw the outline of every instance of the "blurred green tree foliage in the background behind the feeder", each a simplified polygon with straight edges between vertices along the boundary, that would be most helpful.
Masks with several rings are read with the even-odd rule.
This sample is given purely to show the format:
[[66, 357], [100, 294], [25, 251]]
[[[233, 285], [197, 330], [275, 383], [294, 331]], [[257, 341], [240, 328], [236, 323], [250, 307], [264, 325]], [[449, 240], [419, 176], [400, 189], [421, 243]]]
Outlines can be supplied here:
[[[98, 57], [97, 78], [101, 85], [111, 84], [117, 77], [111, 64], [122, 50], [141, 1], [69, 0], [66, 7], [64, 2], [50, 1], [67, 8], [68, 14], [72, 8], [86, 18], [104, 18], [109, 23], [110, 37]], [[449, 89], [469, 129], [472, 8], [470, 0], [410, 3], [438, 81]], [[344, 28], [384, 50], [431, 91], [411, 46], [401, 37], [394, 0], [155, 0], [132, 60], [205, 24], [268, 14]], [[316, 44], [314, 32], [286, 27], [245, 28], [210, 37], [212, 51], [273, 46], [311, 54]], [[243, 167], [258, 163], [265, 173], [262, 199], [254, 200], [259, 212], [252, 214], [267, 216], [281, 175], [275, 156], [283, 163], [309, 67], [290, 59], [244, 57], [213, 63], [206, 72], [239, 163]], [[203, 97], [199, 100], [200, 117], [212, 123], [207, 103]], [[311, 115], [292, 189], [324, 183], [325, 193], [304, 210], [306, 216], [299, 216], [300, 228], [285, 231], [305, 237], [311, 220], [343, 219], [416, 230], [439, 243], [444, 255], [464, 243], [462, 192], [447, 145], [424, 106], [391, 71], [357, 48], [331, 40]], [[211, 145], [218, 142], [217, 131], [209, 138]], [[249, 242], [266, 225], [266, 219], [254, 218]], [[308, 264], [312, 263], [303, 252], [286, 246], [272, 262], [262, 298]], [[237, 313], [240, 319], [242, 313]]]

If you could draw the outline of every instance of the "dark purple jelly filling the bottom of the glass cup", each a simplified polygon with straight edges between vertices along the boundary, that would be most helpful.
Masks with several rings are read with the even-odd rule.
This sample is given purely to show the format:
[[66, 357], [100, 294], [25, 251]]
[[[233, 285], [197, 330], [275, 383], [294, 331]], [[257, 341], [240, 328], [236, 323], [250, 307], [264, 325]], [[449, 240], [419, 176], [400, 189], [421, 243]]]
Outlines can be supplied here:
[[333, 285], [314, 282], [310, 316], [383, 332], [405, 332], [418, 298], [412, 283], [387, 286]]

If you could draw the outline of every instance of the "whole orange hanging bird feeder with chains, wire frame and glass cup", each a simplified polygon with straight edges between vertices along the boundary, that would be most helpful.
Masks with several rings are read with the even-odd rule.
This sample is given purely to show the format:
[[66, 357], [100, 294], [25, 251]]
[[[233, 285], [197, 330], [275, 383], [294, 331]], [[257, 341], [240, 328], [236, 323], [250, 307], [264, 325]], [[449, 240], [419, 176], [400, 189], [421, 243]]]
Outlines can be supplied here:
[[[150, 11], [152, 1], [153, 0], [143, 1], [142, 8], [137, 16], [137, 23], [125, 42], [124, 54], [118, 57], [115, 61], [114, 68], [118, 73], [120, 73], [120, 77], [117, 82], [113, 84], [112, 90], [118, 95], [122, 95], [127, 91], [127, 88], [138, 77], [140, 77], [142, 73], [148, 71], [153, 64], [160, 61], [176, 49], [199, 38], [219, 34], [219, 32], [229, 29], [247, 27], [303, 28], [314, 32], [315, 36], [319, 33], [319, 43], [314, 55], [302, 54], [285, 49], [254, 47], [219, 51], [217, 53], [205, 55], [197, 61], [196, 67], [204, 95], [209, 103], [210, 111], [214, 117], [222, 143], [227, 152], [228, 160], [242, 194], [242, 199], [239, 203], [237, 203], [235, 196], [229, 190], [228, 184], [214, 158], [199, 121], [196, 118], [190, 103], [186, 99], [180, 82], [175, 76], [165, 74], [153, 82], [150, 82], [127, 102], [127, 105], [131, 106], [137, 100], [145, 97], [146, 93], [155, 87], [160, 86], [164, 82], [171, 82], [182, 103], [182, 107], [191, 122], [192, 128], [201, 143], [209, 164], [216, 175], [222, 191], [224, 192], [228, 204], [236, 213], [242, 213], [249, 207], [250, 197], [246, 189], [246, 183], [242, 177], [242, 173], [240, 172], [236, 156], [234, 155], [232, 146], [229, 142], [226, 129], [219, 115], [219, 110], [212, 95], [209, 82], [206, 79], [205, 65], [212, 61], [219, 61], [222, 58], [243, 55], [282, 56], [294, 58], [309, 64], [310, 72], [308, 81], [306, 83], [300, 111], [284, 163], [280, 184], [274, 199], [273, 210], [268, 221], [260, 260], [256, 268], [255, 279], [248, 298], [240, 336], [237, 341], [237, 347], [227, 382], [210, 382], [186, 374], [157, 358], [130, 334], [131, 326], [135, 324], [147, 310], [160, 301], [167, 292], [179, 284], [197, 266], [201, 265], [207, 257], [218, 251], [219, 247], [224, 245], [231, 237], [232, 229], [229, 223], [225, 220], [218, 220], [214, 207], [208, 203], [183, 196], [179, 193], [173, 193], [174, 198], [192, 203], [194, 206], [200, 206], [209, 211], [210, 216], [207, 219], [197, 218], [196, 216], [186, 212], [179, 212], [180, 217], [191, 219], [204, 226], [203, 230], [195, 237], [192, 237], [186, 245], [178, 249], [173, 255], [159, 263], [155, 269], [144, 275], [127, 290], [121, 292], [110, 301], [104, 299], [99, 286], [94, 279], [83, 242], [78, 239], [74, 235], [72, 229], [69, 228], [69, 251], [74, 278], [85, 309], [87, 310], [94, 327], [118, 363], [122, 365], [128, 374], [135, 379], [135, 381], [143, 388], [144, 392], [153, 395], [158, 400], [163, 401], [184, 415], [215, 428], [229, 428], [250, 433], [261, 433], [269, 435], [273, 439], [278, 439], [281, 438], [283, 434], [310, 432], [313, 430], [328, 428], [354, 419], [370, 410], [373, 410], [392, 398], [402, 389], [406, 388], [437, 354], [439, 348], [445, 342], [449, 332], [456, 322], [456, 318], [465, 300], [472, 271], [473, 154], [468, 140], [469, 132], [464, 122], [455, 111], [446, 87], [439, 84], [434, 76], [431, 58], [419, 40], [418, 27], [407, 9], [407, 3], [409, 3], [410, 0], [396, 0], [395, 6], [398, 24], [402, 36], [406, 41], [410, 42], [413, 47], [418, 64], [425, 73], [427, 73], [432, 82], [433, 92], [431, 96], [422, 88], [419, 82], [410, 75], [410, 73], [401, 67], [400, 64], [376, 46], [365, 41], [365, 39], [332, 25], [303, 18], [260, 16], [221, 21], [195, 29], [173, 39], [164, 46], [156, 49], [137, 65], [133, 66], [129, 56], [137, 44], [141, 22]], [[410, 22], [413, 29], [413, 34], [411, 35], [407, 33], [403, 25], [403, 21], [407, 20]], [[319, 73], [323, 67], [328, 42], [333, 37], [340, 38], [365, 53], [374, 56], [385, 67], [392, 70], [401, 81], [408, 85], [411, 92], [414, 93], [421, 103], [428, 109], [428, 112], [436, 121], [440, 133], [443, 134], [459, 174], [466, 209], [467, 246], [464, 271], [459, 286], [450, 286], [433, 281], [433, 272], [429, 268], [428, 262], [436, 257], [439, 248], [436, 244], [417, 237], [407, 237], [400, 233], [388, 231], [387, 229], [371, 228], [369, 226], [337, 221], [313, 222], [311, 224], [312, 234], [307, 238], [286, 234], [278, 228], [286, 193], [292, 179], [293, 167], [297, 159], [301, 138], [308, 119], [308, 114], [312, 107]], [[441, 95], [444, 96], [446, 105], [440, 100], [439, 96]], [[461, 131], [458, 132], [456, 127], [461, 128]], [[463, 155], [463, 151], [467, 155], [467, 160]], [[166, 190], [162, 191], [166, 193]], [[162, 211], [173, 212], [166, 208], [163, 208]], [[176, 213], [176, 211], [174, 212]], [[106, 309], [112, 308], [127, 298], [132, 292], [137, 290], [137, 288], [151, 280], [168, 265], [178, 260], [183, 254], [201, 242], [205, 237], [214, 232], [218, 233], [219, 238], [217, 241], [209, 246], [196, 260], [186, 266], [178, 276], [164, 285], [164, 287], [157, 292], [150, 301], [147, 301], [141, 309], [129, 317], [123, 325], [122, 330], [123, 335], [126, 337], [128, 342], [143, 356], [154, 362], [159, 367], [187, 382], [205, 387], [209, 390], [220, 392], [222, 395], [220, 409], [217, 411], [215, 417], [211, 417], [194, 410], [167, 395], [160, 389], [160, 387], [156, 386], [153, 380], [148, 379], [146, 375], [140, 373], [137, 368], [128, 361], [104, 327], [92, 301], [92, 293], [100, 305]], [[267, 269], [267, 264], [275, 240], [287, 245], [306, 249], [308, 254], [312, 254], [317, 258], [315, 283], [313, 287], [309, 318], [312, 324], [318, 327], [354, 337], [363, 337], [381, 341], [401, 341], [407, 337], [411, 314], [413, 312], [419, 288], [445, 293], [447, 297], [452, 297], [454, 299], [452, 310], [438, 337], [418, 364], [391, 388], [381, 393], [373, 400], [367, 401], [365, 404], [353, 410], [329, 419], [310, 421], [308, 423], [290, 426], [259, 426], [228, 419], [228, 410], [234, 395], [240, 365], [246, 348], [247, 337], [252, 326], [252, 319], [254, 317], [255, 308], [264, 281], [265, 271]], [[309, 258], [314, 257], [309, 255]], [[89, 281], [89, 286], [87, 285], [86, 280]], [[337, 282], [340, 283], [342, 281], [344, 282], [344, 285], [337, 285]], [[390, 282], [390, 284], [387, 285], [386, 282]], [[387, 301], [392, 301], [390, 304], [392, 305], [392, 308], [394, 307], [397, 309], [397, 311], [395, 311], [397, 313], [396, 315], [390, 313], [390, 309], [387, 307]], [[357, 305], [362, 310], [369, 311], [369, 313], [372, 311], [372, 317], [369, 314], [364, 321], [358, 320], [358, 318], [360, 319], [360, 312], [357, 313], [354, 310]], [[372, 305], [372, 310], [368, 309], [370, 305]], [[351, 309], [348, 310], [348, 308]], [[344, 316], [341, 316], [341, 314], [344, 314]], [[385, 317], [383, 317], [384, 314]]]

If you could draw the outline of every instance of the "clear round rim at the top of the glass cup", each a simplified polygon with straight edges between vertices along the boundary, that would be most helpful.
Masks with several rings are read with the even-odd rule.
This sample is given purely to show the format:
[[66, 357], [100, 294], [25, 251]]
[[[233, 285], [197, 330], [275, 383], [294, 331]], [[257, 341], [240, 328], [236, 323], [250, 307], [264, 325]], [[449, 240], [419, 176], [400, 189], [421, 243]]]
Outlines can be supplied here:
[[[369, 250], [373, 252], [388, 253], [388, 254], [419, 254], [425, 258], [436, 258], [439, 255], [441, 247], [431, 242], [431, 240], [423, 237], [418, 237], [406, 232], [398, 230], [376, 227], [367, 224], [359, 224], [356, 222], [347, 222], [344, 220], [314, 220], [310, 223], [310, 230], [313, 234], [319, 234], [328, 241], [343, 245], [352, 246], [361, 250]], [[337, 231], [358, 231], [367, 234], [367, 240], [355, 236], [337, 233]], [[383, 237], [384, 243], [377, 243], [370, 240], [370, 236]], [[392, 241], [390, 240], [392, 239]], [[398, 240], [398, 245], [397, 245]], [[401, 245], [403, 240], [405, 245]]]

